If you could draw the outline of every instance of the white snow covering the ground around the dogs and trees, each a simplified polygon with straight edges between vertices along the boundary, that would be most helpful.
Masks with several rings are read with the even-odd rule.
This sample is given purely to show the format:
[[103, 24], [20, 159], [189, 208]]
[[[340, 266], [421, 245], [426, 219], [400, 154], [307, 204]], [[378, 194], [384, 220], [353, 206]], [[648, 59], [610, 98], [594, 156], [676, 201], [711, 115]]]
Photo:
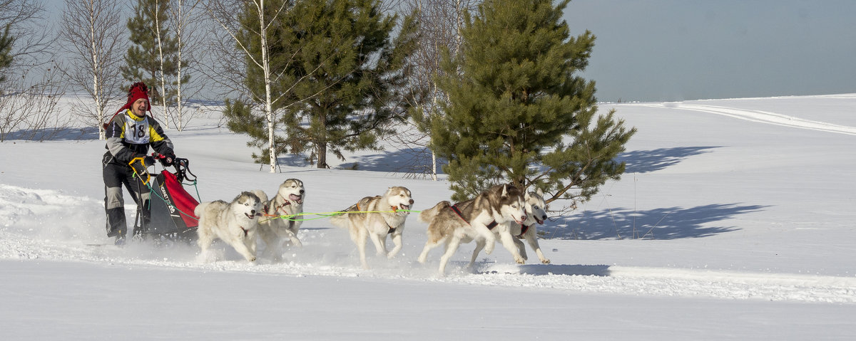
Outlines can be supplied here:
[[[249, 264], [223, 244], [208, 263], [194, 245], [119, 249], [104, 232], [103, 141], [0, 143], [0, 338], [852, 338], [856, 94], [609, 109], [639, 129], [621, 154], [627, 173], [539, 226], [552, 262], [527, 250], [517, 265], [497, 247], [471, 272], [464, 244], [445, 277], [440, 250], [415, 261], [426, 227], [415, 216], [401, 254], [372, 256], [370, 269], [326, 219], [306, 221], [304, 248], [282, 263]], [[364, 170], [289, 158], [283, 173], [259, 171], [247, 138], [218, 122], [215, 108], [167, 130], [203, 201], [287, 178], [305, 182], [304, 209], [317, 213], [392, 185], [413, 191], [416, 210], [451, 194], [389, 172], [394, 150], [342, 162]]]

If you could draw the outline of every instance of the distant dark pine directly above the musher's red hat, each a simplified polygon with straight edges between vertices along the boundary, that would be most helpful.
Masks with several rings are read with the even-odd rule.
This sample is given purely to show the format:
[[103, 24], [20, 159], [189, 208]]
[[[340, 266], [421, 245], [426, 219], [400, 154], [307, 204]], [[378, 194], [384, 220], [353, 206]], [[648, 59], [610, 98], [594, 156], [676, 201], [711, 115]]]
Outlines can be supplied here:
[[[122, 67], [122, 78], [128, 84], [143, 81], [149, 85], [152, 105], [162, 103], [161, 96], [165, 92], [167, 105], [175, 103], [175, 93], [171, 85], [178, 83], [175, 79], [178, 69], [178, 41], [171, 36], [167, 28], [169, 18], [168, 0], [137, 0], [134, 5], [134, 15], [128, 19], [130, 41], [125, 56], [125, 66]], [[158, 45], [158, 35], [160, 44]], [[163, 53], [163, 68], [160, 55]], [[161, 86], [161, 75], [169, 79], [167, 89]], [[181, 84], [187, 83], [189, 77], [182, 76]]]

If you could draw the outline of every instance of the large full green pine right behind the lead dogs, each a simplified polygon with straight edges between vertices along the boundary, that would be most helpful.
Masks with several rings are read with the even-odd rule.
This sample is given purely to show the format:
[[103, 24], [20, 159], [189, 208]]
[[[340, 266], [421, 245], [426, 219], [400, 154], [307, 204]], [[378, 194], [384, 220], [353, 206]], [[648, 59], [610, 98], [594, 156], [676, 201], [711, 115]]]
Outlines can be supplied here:
[[612, 111], [595, 120], [594, 82], [575, 75], [595, 37], [570, 37], [568, 2], [487, 0], [467, 14], [461, 53], [445, 54], [447, 76], [438, 77], [449, 95], [446, 116], [431, 125], [453, 199], [508, 182], [536, 185], [552, 194], [548, 202], [585, 201], [624, 172], [615, 156], [635, 128]]

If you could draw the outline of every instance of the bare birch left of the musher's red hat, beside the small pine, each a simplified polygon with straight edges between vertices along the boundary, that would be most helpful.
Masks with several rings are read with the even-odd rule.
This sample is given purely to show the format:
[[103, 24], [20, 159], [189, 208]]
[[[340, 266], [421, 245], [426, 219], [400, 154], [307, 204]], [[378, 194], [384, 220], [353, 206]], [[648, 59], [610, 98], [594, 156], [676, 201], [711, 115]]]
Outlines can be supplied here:
[[128, 38], [121, 6], [113, 0], [65, 0], [62, 12], [60, 39], [67, 62], [61, 70], [70, 85], [85, 90], [94, 102], [94, 108], [81, 105], [81, 115], [98, 126], [100, 139], [106, 116], [112, 114], [107, 106], [123, 94], [119, 67]]

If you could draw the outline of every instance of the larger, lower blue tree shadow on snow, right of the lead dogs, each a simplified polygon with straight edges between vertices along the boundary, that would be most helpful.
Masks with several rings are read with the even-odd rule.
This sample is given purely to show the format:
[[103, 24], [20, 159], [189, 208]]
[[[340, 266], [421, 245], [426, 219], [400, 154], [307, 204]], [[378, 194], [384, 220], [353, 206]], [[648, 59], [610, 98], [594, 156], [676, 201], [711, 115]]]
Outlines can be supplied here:
[[645, 238], [677, 239], [710, 237], [723, 232], [739, 230], [735, 226], [713, 226], [710, 223], [757, 212], [769, 206], [714, 203], [693, 208], [664, 208], [646, 211], [632, 209], [604, 209], [585, 211], [561, 217], [544, 226], [538, 226], [542, 238], [606, 239]]

